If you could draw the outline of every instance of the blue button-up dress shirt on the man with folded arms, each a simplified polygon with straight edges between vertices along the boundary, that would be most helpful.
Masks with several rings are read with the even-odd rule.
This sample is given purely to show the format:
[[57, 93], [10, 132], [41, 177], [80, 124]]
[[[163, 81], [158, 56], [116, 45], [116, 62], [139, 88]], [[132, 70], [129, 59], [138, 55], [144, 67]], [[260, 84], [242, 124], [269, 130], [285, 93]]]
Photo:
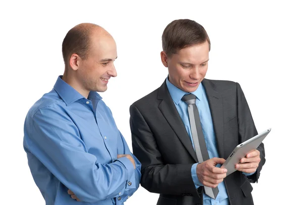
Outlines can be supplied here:
[[[123, 204], [139, 187], [141, 164], [102, 97], [90, 92], [86, 99], [61, 78], [25, 119], [23, 143], [33, 179], [46, 205]], [[118, 154], [131, 155], [136, 169]]]

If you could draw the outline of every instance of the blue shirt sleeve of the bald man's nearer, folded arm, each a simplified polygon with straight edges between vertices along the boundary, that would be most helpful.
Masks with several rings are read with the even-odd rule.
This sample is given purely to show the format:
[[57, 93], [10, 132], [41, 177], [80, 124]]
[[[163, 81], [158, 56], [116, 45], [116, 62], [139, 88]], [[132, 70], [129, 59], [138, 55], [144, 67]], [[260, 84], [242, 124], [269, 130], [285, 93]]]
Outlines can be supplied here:
[[132, 163], [126, 157], [109, 164], [96, 163], [66, 113], [42, 108], [29, 119], [27, 129], [30, 152], [81, 201], [112, 198], [130, 188], [127, 181], [134, 174]]

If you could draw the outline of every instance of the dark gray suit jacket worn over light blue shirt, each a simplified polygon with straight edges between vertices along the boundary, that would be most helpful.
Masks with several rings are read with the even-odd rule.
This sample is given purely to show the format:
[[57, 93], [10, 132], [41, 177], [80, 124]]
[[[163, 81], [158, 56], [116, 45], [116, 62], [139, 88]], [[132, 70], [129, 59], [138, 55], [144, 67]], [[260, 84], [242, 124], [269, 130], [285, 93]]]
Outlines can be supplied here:
[[[204, 79], [221, 158], [227, 159], [240, 143], [258, 134], [243, 91], [238, 83]], [[190, 138], [169, 94], [166, 82], [130, 106], [134, 155], [142, 163], [141, 186], [160, 193], [159, 205], [201, 204], [191, 177], [197, 163]], [[252, 186], [265, 163], [264, 145], [258, 148], [261, 162], [254, 175], [236, 171], [224, 181], [231, 205], [254, 204]]]

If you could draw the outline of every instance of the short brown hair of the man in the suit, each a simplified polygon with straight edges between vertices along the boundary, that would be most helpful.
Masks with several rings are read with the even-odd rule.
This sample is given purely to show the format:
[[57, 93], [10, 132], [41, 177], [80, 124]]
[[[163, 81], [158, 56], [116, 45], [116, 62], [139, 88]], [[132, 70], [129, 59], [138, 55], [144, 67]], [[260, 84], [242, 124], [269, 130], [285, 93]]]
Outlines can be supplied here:
[[162, 48], [168, 56], [182, 48], [206, 41], [211, 50], [211, 41], [204, 27], [189, 19], [172, 21], [162, 34]]

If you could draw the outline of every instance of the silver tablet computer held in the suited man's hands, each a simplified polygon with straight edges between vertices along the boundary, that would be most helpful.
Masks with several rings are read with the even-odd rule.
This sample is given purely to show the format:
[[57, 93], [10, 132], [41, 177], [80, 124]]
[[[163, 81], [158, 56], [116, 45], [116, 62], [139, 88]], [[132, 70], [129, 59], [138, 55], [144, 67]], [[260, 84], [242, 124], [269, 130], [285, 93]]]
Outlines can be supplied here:
[[235, 166], [240, 160], [245, 157], [248, 153], [256, 150], [262, 141], [265, 139], [267, 134], [271, 131], [271, 128], [259, 133], [258, 135], [250, 138], [249, 140], [239, 144], [226, 159], [221, 168], [227, 169], [226, 176], [236, 171]]

